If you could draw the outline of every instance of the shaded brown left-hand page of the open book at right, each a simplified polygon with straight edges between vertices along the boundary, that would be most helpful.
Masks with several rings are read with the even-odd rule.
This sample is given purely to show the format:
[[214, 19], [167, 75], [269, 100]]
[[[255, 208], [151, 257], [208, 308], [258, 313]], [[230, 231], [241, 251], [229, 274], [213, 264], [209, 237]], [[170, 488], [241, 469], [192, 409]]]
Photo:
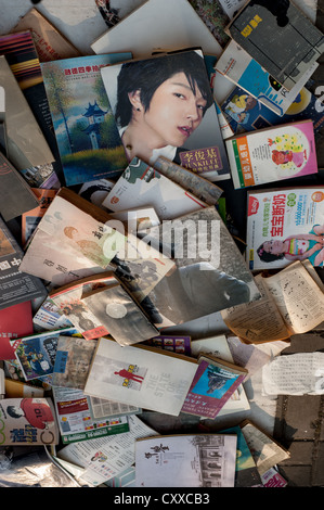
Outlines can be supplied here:
[[287, 339], [287, 330], [281, 314], [261, 275], [255, 277], [261, 298], [221, 311], [225, 324], [238, 337], [248, 342], [270, 342]]

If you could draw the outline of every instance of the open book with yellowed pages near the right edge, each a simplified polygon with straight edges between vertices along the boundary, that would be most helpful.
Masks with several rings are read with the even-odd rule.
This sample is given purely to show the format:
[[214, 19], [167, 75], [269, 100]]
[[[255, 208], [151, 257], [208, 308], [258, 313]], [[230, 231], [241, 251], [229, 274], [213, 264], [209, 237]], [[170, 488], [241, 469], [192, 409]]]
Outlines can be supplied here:
[[309, 260], [295, 262], [269, 278], [257, 275], [255, 280], [262, 295], [259, 301], [221, 313], [242, 340], [286, 340], [323, 321], [324, 286]]

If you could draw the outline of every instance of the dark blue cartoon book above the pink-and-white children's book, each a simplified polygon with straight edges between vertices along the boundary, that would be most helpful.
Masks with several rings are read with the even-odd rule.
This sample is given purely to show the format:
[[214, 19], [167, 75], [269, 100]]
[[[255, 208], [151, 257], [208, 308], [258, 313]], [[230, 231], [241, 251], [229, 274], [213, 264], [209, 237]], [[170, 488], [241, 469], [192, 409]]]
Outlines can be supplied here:
[[260, 101], [254, 101], [251, 95], [239, 87], [234, 87], [221, 109], [235, 135], [311, 119], [316, 136], [324, 124], [324, 109], [320, 99], [304, 87], [282, 117]]

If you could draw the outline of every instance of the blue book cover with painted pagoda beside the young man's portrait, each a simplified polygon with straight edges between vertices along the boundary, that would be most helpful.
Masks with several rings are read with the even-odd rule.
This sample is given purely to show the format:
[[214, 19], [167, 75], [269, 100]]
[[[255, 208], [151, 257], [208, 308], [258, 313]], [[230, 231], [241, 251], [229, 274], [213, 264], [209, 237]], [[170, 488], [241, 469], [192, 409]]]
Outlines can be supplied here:
[[41, 63], [66, 186], [117, 177], [126, 168], [100, 69], [131, 56], [114, 53]]

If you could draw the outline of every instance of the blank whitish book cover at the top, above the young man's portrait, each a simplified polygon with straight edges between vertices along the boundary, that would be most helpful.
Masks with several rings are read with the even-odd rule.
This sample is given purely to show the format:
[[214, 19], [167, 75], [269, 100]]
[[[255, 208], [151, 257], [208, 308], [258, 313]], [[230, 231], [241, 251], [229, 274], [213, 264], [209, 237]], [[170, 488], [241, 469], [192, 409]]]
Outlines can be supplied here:
[[[167, 46], [167, 48], [166, 48]], [[94, 53], [132, 51], [133, 58], [154, 51], [199, 47], [220, 55], [222, 48], [187, 0], [148, 0], [95, 39]]]

